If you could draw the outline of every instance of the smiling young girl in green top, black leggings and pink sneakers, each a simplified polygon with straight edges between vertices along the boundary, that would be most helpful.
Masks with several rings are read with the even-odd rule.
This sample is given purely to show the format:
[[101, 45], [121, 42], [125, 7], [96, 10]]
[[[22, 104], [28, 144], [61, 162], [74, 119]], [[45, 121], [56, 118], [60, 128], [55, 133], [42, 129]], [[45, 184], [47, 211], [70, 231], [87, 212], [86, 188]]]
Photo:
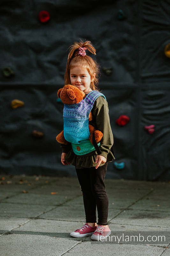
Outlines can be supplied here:
[[[92, 240], [98, 240], [100, 236], [103, 238], [103, 236], [106, 237], [111, 234], [107, 224], [108, 197], [104, 179], [107, 163], [115, 160], [115, 156], [112, 147], [113, 134], [110, 127], [108, 104], [105, 96], [97, 88], [99, 65], [90, 56], [86, 55], [86, 50], [96, 54], [96, 50], [90, 41], [80, 41], [70, 46], [64, 80], [65, 85], [74, 85], [80, 91], [85, 92], [85, 104], [87, 102], [91, 104], [90, 107], [88, 105], [92, 112], [92, 121], [89, 124], [93, 125], [96, 130], [101, 131], [103, 137], [100, 140], [100, 145], [94, 147], [91, 144], [93, 148], [85, 151], [86, 154], [84, 155], [76, 151], [76, 148], [73, 147], [75, 144], [71, 141], [67, 145], [61, 144], [61, 162], [64, 165], [70, 163], [75, 165], [85, 208], [85, 225], [71, 232], [70, 236], [84, 237], [92, 235]], [[83, 144], [84, 141], [79, 140], [79, 147], [77, 147], [79, 149], [77, 150], [85, 145]], [[87, 141], [89, 141], [88, 138]], [[96, 205], [98, 223], [96, 223]]]

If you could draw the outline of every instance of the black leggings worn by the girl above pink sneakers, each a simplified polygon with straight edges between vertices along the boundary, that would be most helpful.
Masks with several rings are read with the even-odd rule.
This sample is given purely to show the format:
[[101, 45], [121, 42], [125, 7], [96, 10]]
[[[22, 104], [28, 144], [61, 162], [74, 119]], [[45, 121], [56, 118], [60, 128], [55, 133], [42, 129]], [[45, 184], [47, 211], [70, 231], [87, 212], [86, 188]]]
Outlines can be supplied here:
[[98, 225], [107, 225], [108, 197], [105, 188], [107, 164], [97, 169], [95, 167], [77, 169], [78, 181], [83, 193], [86, 222], [96, 223], [96, 205]]

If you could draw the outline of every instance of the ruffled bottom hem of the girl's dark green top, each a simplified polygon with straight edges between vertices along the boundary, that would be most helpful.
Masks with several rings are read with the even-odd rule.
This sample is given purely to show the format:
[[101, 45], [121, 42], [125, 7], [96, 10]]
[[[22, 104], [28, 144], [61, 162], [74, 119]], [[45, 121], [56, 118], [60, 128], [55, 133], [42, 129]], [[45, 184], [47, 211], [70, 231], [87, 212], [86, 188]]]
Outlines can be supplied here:
[[[68, 153], [67, 156], [65, 157], [65, 160], [69, 162], [72, 165], [75, 165], [76, 168], [90, 168], [90, 167], [95, 167], [96, 166], [96, 156], [97, 153], [96, 151], [91, 152], [92, 155], [84, 155], [84, 156], [77, 156], [74, 154], [73, 150], [71, 149]], [[107, 161], [105, 164], [108, 162], [112, 162], [115, 160], [115, 157], [113, 154], [110, 152], [107, 154]], [[102, 166], [104, 164], [100, 164], [99, 166]]]

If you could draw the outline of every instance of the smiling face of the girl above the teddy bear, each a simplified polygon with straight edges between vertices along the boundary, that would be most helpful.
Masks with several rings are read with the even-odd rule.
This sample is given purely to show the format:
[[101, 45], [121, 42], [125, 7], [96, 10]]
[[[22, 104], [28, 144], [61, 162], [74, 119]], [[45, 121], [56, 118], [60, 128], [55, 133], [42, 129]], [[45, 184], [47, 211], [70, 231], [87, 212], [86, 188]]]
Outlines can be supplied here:
[[95, 73], [91, 78], [89, 72], [85, 67], [76, 66], [74, 68], [70, 68], [70, 81], [71, 84], [76, 86], [80, 91], [85, 93], [89, 93], [92, 91], [90, 88], [91, 82], [94, 80]]

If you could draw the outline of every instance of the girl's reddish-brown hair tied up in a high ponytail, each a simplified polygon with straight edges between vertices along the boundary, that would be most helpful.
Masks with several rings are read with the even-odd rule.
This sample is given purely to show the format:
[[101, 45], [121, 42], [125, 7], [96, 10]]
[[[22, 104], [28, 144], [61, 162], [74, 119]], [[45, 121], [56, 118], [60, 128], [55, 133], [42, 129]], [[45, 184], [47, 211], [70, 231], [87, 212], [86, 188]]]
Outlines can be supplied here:
[[99, 82], [98, 77], [99, 77], [99, 73], [100, 73], [99, 64], [95, 60], [93, 60], [90, 56], [78, 55], [78, 49], [80, 47], [82, 47], [82, 48], [85, 47], [85, 48], [87, 48], [87, 50], [89, 52], [96, 55], [96, 49], [92, 46], [90, 41], [83, 42], [82, 40], [80, 40], [79, 43], [75, 42], [74, 44], [72, 44], [69, 47], [70, 52], [69, 52], [69, 55], [67, 58], [66, 72], [65, 72], [65, 76], [64, 76], [65, 85], [71, 84], [70, 69], [74, 68], [76, 66], [84, 66], [87, 69], [87, 71], [89, 72], [91, 77], [93, 76], [94, 73], [96, 73], [94, 80], [90, 84], [90, 88], [92, 90], [99, 91], [99, 88], [97, 87], [98, 82]]

